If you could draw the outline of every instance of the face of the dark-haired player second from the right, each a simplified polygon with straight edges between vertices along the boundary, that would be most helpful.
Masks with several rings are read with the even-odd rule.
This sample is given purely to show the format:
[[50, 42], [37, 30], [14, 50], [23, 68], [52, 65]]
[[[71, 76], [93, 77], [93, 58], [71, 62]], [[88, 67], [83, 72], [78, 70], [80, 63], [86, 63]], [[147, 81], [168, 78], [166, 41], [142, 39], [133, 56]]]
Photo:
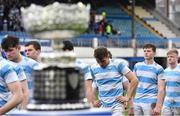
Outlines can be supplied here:
[[155, 56], [155, 52], [152, 50], [152, 48], [144, 48], [144, 59], [145, 60], [151, 60]]

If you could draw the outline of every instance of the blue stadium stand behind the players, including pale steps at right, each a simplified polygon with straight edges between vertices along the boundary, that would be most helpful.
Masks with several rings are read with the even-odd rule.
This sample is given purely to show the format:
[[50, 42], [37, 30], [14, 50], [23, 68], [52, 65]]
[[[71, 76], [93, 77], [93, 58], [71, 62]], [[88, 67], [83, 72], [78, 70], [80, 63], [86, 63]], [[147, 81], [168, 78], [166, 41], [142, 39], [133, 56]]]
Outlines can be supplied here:
[[[73, 38], [71, 41], [76, 47], [92, 47], [93, 39], [98, 39], [99, 46], [107, 46], [112, 48], [131, 48], [132, 47], [132, 19], [131, 14], [129, 14], [126, 10], [124, 10], [121, 5], [106, 5], [97, 7], [95, 10], [96, 14], [101, 14], [102, 12], [106, 12], [107, 20], [112, 24], [115, 30], [120, 31], [120, 35], [111, 35], [112, 44], [109, 45], [109, 39], [106, 35], [102, 36], [100, 34], [95, 33], [86, 33], [79, 37]], [[128, 10], [128, 9], [127, 9]], [[142, 7], [135, 8], [136, 16], [139, 19], [135, 19], [135, 37], [137, 47], [142, 47], [145, 43], [153, 43], [159, 48], [167, 48], [168, 41], [171, 40], [173, 43], [176, 39], [176, 35], [171, 33], [171, 31], [166, 31], [165, 26], [161, 26], [162, 23], [155, 18], [151, 13], [149, 13], [146, 9]], [[142, 22], [146, 22], [144, 25]], [[158, 22], [158, 23], [157, 23]], [[161, 24], [161, 25], [158, 25]], [[153, 27], [153, 25], [155, 25]], [[158, 25], [158, 26], [157, 26]], [[154, 32], [149, 27], [153, 27]], [[159, 30], [162, 30], [161, 33]], [[159, 35], [157, 33], [160, 33]], [[166, 35], [165, 35], [166, 34]], [[168, 34], [168, 35], [167, 35]], [[26, 32], [19, 31], [0, 31], [0, 38], [4, 35], [13, 35], [17, 36], [21, 39], [21, 43], [24, 44], [26, 41], [30, 41], [35, 38], [31, 34]], [[38, 40], [38, 38], [35, 38]], [[42, 43], [43, 46], [50, 46], [52, 43], [50, 41], [46, 41]], [[179, 45], [175, 45], [178, 47]]]

